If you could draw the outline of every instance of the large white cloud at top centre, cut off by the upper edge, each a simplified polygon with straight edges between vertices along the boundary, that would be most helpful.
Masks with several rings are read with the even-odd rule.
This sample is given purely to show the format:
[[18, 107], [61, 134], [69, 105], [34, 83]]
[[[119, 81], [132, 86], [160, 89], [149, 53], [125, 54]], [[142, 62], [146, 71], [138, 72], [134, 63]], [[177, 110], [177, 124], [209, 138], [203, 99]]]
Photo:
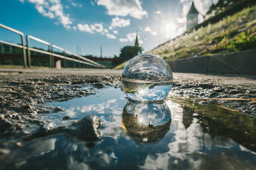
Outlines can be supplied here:
[[141, 19], [147, 17], [147, 11], [143, 10], [139, 0], [99, 0], [98, 5], [105, 6], [108, 15], [127, 16]]

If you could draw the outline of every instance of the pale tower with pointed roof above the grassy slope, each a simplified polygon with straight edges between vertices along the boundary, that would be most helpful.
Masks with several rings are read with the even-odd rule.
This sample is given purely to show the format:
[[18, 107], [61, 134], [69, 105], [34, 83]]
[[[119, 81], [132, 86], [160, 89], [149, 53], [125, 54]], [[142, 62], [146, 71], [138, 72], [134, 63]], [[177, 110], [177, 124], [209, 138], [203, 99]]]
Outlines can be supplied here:
[[195, 8], [194, 1], [192, 1], [191, 8], [187, 14], [187, 30], [192, 29], [198, 24], [198, 14], [199, 12]]

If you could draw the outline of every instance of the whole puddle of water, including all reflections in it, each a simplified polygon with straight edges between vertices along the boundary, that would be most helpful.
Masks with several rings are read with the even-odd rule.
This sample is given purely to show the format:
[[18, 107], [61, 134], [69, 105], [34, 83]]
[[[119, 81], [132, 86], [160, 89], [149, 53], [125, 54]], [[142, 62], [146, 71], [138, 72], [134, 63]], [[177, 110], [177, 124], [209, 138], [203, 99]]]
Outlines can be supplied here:
[[[109, 87], [42, 114], [55, 127], [86, 115], [101, 120], [100, 138], [65, 133], [33, 139], [1, 163], [3, 169], [255, 169], [255, 119], [182, 99], [141, 104]], [[62, 120], [63, 117], [72, 120]]]

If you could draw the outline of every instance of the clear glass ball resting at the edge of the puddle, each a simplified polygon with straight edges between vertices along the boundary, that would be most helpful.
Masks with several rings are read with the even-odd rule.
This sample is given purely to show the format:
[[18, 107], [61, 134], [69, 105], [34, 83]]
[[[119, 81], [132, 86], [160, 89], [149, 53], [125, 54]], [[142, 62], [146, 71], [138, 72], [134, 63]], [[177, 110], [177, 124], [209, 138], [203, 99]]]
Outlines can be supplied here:
[[163, 101], [172, 89], [172, 70], [157, 55], [138, 55], [124, 67], [122, 85], [128, 98], [134, 101]]

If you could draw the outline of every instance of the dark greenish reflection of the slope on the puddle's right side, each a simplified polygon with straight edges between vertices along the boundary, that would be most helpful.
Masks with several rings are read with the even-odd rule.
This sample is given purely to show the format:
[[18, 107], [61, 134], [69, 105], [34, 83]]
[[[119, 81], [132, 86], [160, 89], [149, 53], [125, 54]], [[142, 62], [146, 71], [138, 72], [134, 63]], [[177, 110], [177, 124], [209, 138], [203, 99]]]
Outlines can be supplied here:
[[[194, 118], [198, 120], [198, 124], [202, 127], [204, 134], [210, 134], [212, 139], [218, 139], [222, 142], [228, 142], [228, 138], [230, 138], [245, 148], [253, 152], [256, 151], [255, 118], [248, 117], [236, 111], [216, 107], [214, 104], [205, 106], [182, 99], [176, 99], [175, 101], [183, 105], [183, 112], [186, 116], [183, 117], [182, 123], [186, 129], [191, 125], [187, 121], [187, 118], [189, 119], [190, 116], [193, 116], [193, 113], [197, 113], [198, 115], [195, 115]], [[191, 113], [189, 113], [189, 110], [191, 110]]]

